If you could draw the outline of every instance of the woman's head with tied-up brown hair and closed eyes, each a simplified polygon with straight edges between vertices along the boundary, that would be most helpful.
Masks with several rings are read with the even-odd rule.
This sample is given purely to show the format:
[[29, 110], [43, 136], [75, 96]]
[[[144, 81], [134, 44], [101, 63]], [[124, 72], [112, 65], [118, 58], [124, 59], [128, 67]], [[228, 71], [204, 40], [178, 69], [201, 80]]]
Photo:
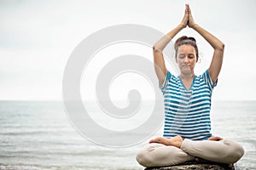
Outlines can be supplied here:
[[175, 58], [183, 74], [194, 73], [198, 60], [198, 48], [194, 37], [179, 37], [175, 42]]

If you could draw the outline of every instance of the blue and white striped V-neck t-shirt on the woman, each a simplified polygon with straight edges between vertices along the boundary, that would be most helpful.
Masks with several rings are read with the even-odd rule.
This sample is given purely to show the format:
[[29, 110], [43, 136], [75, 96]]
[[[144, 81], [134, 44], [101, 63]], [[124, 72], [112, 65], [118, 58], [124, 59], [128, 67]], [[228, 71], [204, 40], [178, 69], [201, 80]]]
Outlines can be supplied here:
[[183, 139], [202, 140], [211, 133], [211, 97], [212, 84], [208, 70], [201, 76], [195, 76], [189, 90], [181, 77], [167, 72], [166, 80], [160, 89], [165, 98], [164, 137], [181, 135]]

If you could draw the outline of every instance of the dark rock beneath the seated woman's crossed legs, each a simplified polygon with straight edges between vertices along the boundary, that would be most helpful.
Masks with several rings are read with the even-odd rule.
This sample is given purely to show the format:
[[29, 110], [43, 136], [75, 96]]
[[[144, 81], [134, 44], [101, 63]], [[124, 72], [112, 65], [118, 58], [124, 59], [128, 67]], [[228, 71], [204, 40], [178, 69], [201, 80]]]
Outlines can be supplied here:
[[215, 162], [197, 162], [188, 161], [183, 164], [174, 165], [170, 167], [148, 167], [145, 170], [235, 170], [233, 164], [221, 164]]

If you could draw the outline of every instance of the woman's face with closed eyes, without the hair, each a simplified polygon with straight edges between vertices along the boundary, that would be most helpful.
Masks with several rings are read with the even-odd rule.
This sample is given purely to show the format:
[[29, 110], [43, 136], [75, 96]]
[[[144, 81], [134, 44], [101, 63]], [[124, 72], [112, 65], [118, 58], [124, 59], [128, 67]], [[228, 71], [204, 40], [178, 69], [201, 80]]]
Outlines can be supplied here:
[[194, 74], [196, 63], [195, 48], [189, 44], [179, 46], [176, 61], [182, 74]]

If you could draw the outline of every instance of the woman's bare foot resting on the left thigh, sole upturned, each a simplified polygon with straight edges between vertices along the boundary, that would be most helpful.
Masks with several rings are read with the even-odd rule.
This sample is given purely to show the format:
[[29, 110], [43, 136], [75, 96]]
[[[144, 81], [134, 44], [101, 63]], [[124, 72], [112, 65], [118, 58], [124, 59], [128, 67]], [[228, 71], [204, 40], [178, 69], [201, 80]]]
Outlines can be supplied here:
[[159, 144], [165, 144], [167, 146], [176, 146], [177, 148], [180, 148], [181, 144], [183, 143], [183, 138], [180, 135], [177, 135], [172, 139], [157, 137], [155, 139], [151, 139], [149, 143], [159, 143]]

